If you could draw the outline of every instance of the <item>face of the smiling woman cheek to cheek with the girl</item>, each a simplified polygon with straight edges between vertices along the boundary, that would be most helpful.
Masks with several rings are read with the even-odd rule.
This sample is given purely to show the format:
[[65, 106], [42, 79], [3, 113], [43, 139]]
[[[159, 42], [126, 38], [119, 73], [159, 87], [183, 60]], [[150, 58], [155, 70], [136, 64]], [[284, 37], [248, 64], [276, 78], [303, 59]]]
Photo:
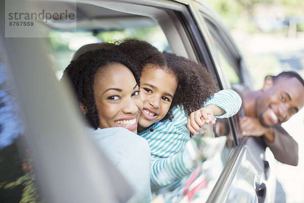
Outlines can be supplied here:
[[135, 78], [125, 65], [112, 63], [97, 72], [93, 90], [100, 128], [124, 127], [137, 133], [142, 101]]

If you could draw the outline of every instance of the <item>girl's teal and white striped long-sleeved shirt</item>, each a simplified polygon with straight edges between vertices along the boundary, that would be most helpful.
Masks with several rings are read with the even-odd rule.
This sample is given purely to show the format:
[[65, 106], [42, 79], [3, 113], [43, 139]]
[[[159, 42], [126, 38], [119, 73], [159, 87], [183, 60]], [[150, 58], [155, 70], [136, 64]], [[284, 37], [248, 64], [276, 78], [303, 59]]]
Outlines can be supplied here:
[[[235, 115], [242, 104], [241, 97], [231, 89], [215, 93], [203, 106], [216, 105], [226, 113], [217, 118]], [[163, 187], [193, 172], [194, 165], [189, 152], [184, 149], [190, 138], [187, 115], [181, 106], [172, 109], [173, 119], [158, 121], [149, 129], [139, 132], [148, 141], [151, 150], [151, 187]], [[153, 132], [150, 131], [153, 129]], [[162, 172], [162, 173], [161, 173]]]

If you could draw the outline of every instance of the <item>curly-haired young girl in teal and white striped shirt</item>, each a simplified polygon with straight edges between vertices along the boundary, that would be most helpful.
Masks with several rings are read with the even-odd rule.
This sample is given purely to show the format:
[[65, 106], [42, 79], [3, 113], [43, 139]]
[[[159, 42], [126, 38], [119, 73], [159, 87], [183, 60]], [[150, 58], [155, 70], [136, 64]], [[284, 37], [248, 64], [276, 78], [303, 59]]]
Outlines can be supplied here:
[[[173, 183], [195, 166], [190, 164], [193, 161], [189, 153], [182, 151], [190, 138], [187, 116], [196, 111], [197, 120], [214, 123], [213, 115], [223, 118], [236, 114], [241, 98], [232, 90], [214, 94], [217, 88], [203, 65], [175, 54], [162, 54], [146, 42], [125, 40], [111, 49], [130, 55], [141, 73], [140, 96], [144, 105], [138, 134], [150, 146], [153, 187]], [[208, 99], [204, 104], [208, 105], [202, 108]], [[160, 178], [163, 171], [170, 177]]]

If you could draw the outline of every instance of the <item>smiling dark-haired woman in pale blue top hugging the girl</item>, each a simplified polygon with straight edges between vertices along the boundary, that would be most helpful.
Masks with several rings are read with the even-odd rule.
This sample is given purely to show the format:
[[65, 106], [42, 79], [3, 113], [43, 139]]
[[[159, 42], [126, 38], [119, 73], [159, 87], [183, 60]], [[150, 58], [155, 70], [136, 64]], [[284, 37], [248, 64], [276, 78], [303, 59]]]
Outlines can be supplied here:
[[140, 201], [149, 202], [150, 151], [146, 140], [135, 134], [143, 104], [138, 71], [130, 58], [115, 51], [89, 51], [67, 66], [62, 80], [71, 82], [80, 109], [94, 128], [93, 138], [143, 196]]

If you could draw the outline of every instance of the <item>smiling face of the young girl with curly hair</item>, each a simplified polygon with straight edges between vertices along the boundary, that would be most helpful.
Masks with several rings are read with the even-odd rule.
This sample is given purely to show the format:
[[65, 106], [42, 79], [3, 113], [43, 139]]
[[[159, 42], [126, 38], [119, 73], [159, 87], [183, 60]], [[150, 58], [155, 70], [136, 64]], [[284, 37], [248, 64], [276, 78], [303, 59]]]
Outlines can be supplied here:
[[177, 80], [172, 72], [151, 65], [143, 68], [140, 77], [140, 97], [143, 110], [139, 117], [139, 127], [149, 127], [168, 113], [177, 88]]

